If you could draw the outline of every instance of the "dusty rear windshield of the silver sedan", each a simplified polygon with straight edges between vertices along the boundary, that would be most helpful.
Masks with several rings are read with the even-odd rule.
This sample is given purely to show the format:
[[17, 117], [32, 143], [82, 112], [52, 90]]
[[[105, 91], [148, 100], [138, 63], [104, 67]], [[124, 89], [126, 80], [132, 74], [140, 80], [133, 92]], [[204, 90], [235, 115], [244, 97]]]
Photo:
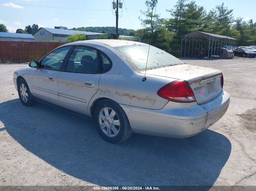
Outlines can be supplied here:
[[[148, 51], [149, 48], [149, 51]], [[184, 64], [171, 54], [149, 45], [128, 45], [114, 47], [137, 71], [147, 70], [171, 65]]]

